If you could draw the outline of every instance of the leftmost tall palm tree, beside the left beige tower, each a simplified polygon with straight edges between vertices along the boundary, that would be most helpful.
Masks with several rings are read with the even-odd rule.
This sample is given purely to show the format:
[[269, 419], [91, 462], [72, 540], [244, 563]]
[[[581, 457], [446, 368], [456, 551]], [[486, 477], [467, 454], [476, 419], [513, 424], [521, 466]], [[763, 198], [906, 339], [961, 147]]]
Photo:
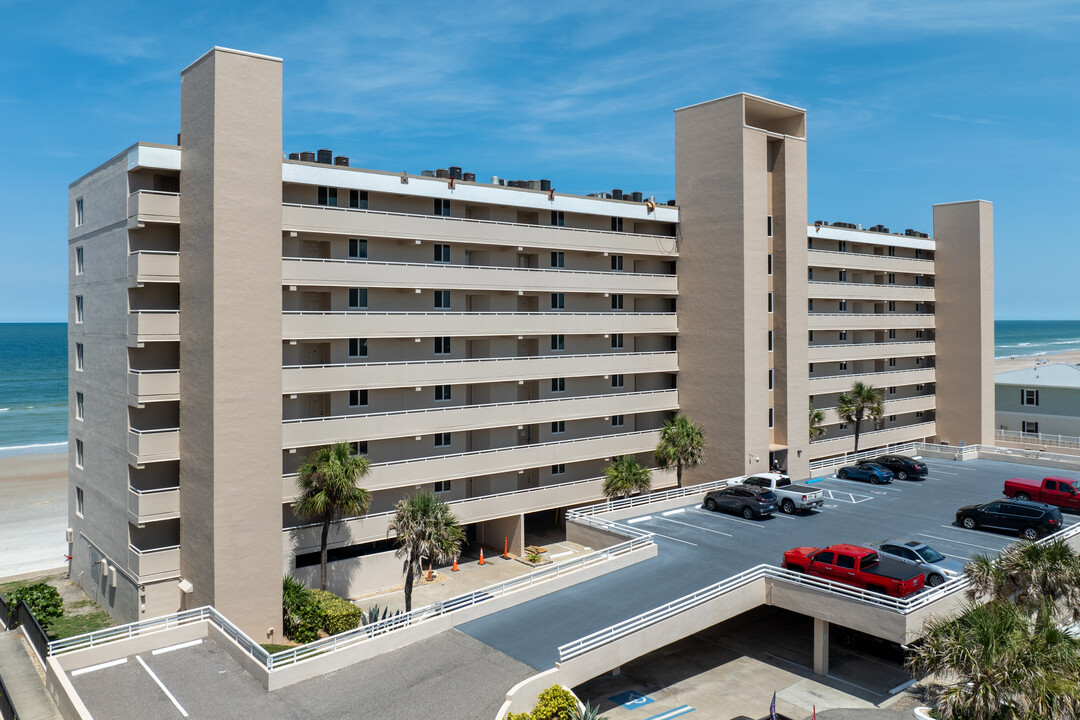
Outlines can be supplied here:
[[319, 546], [319, 588], [326, 589], [326, 540], [330, 522], [336, 517], [355, 517], [367, 513], [372, 493], [360, 487], [360, 478], [370, 472], [367, 458], [352, 454], [348, 443], [319, 448], [303, 461], [296, 474], [300, 491], [293, 512], [300, 517], [320, 518], [323, 521], [322, 542]]

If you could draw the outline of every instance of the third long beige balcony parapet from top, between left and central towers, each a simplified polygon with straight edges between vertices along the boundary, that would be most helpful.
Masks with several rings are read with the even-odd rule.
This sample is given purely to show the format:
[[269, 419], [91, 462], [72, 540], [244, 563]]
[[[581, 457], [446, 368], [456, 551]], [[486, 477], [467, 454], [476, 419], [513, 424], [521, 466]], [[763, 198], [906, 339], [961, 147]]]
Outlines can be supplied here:
[[[922, 317], [922, 315], [919, 315]], [[932, 322], [933, 315], [926, 315]], [[899, 326], [890, 326], [899, 327]], [[920, 327], [922, 327], [920, 325]], [[368, 312], [282, 313], [286, 340], [433, 338], [524, 335], [675, 334], [675, 313], [634, 312]]]

